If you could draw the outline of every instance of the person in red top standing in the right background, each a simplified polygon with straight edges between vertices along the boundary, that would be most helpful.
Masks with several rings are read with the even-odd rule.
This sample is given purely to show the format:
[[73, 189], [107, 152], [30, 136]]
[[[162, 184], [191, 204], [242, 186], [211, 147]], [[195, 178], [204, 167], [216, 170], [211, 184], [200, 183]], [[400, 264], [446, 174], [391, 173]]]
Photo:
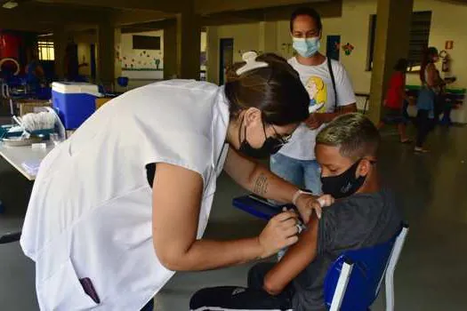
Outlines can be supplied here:
[[406, 94], [406, 73], [407, 60], [398, 60], [384, 100], [384, 116], [378, 124], [378, 129], [381, 129], [384, 124], [398, 124], [400, 142], [403, 144], [412, 142], [407, 137], [408, 119], [404, 113], [406, 108], [404, 103], [409, 101]]

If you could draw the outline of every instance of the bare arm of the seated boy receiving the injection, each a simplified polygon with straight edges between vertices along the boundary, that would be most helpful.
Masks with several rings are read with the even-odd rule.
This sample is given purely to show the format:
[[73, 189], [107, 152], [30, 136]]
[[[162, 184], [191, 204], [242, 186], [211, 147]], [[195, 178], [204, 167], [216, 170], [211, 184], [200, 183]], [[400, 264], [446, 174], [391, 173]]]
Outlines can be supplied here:
[[288, 283], [299, 275], [315, 259], [318, 252], [318, 218], [312, 216], [308, 229], [300, 235], [294, 246], [264, 277], [263, 289], [278, 295]]

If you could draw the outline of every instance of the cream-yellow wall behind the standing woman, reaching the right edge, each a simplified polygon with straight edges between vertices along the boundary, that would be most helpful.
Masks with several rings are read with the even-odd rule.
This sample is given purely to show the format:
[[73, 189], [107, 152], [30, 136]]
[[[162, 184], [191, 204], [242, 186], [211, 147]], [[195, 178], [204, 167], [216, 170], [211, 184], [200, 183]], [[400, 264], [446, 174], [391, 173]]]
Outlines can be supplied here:
[[[366, 71], [366, 60], [370, 15], [376, 13], [376, 7], [376, 0], [342, 0], [342, 17], [323, 19], [321, 52], [326, 53], [328, 35], [341, 35], [341, 44], [350, 43], [355, 47], [349, 56], [345, 55], [342, 49], [340, 53], [342, 64], [349, 72], [355, 92], [370, 91], [371, 72]], [[430, 45], [443, 50], [447, 40], [454, 41], [454, 49], [448, 52], [453, 60], [450, 75], [456, 76], [457, 81], [450, 87], [467, 88], [467, 23], [464, 22], [467, 18], [467, 5], [439, 0], [415, 0], [414, 11], [431, 11]], [[262, 28], [264, 22], [208, 28], [208, 81], [218, 83], [219, 40], [222, 37], [234, 39], [234, 61], [241, 60], [241, 52], [260, 51], [266, 45], [262, 40], [276, 42], [275, 51], [266, 52], [277, 52], [286, 58], [291, 57], [294, 51], [289, 21], [279, 20], [275, 23], [276, 27], [269, 25], [267, 28]], [[271, 29], [275, 29], [276, 33], [270, 34]], [[420, 84], [418, 74], [407, 75], [407, 84]], [[467, 122], [467, 103], [463, 105], [463, 111], [456, 112], [455, 115], [464, 115], [461, 119], [464, 118]]]

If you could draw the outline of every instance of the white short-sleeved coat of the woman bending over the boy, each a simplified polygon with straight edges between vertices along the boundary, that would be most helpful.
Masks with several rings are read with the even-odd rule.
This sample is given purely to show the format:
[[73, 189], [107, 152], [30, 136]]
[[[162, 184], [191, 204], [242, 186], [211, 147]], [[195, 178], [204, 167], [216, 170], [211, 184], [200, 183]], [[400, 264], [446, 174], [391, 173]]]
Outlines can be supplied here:
[[[227, 154], [228, 124], [222, 87], [173, 80], [111, 100], [52, 150], [37, 175], [20, 240], [36, 261], [41, 309], [140, 310], [173, 275], [153, 248], [145, 166], [173, 163], [203, 177], [200, 238]], [[79, 283], [85, 277], [99, 305]]]

